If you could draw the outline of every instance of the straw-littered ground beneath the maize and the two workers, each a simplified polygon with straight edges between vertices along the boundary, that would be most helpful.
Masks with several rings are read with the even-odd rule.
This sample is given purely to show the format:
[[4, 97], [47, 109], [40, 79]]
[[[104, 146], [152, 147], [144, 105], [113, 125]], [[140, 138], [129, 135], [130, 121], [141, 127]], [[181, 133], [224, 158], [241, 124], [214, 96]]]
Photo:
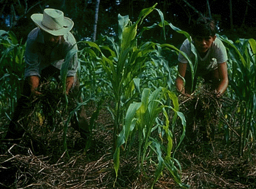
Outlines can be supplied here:
[[[96, 109], [93, 104], [86, 109], [89, 119]], [[148, 171], [138, 174], [135, 155], [130, 155], [121, 157], [120, 173], [113, 186], [113, 121], [106, 108], [99, 112], [87, 150], [86, 141], [68, 128], [69, 157], [62, 149], [62, 130], [45, 130], [38, 120], [32, 120], [31, 125], [36, 133], [33, 139], [25, 135], [18, 144], [1, 142], [0, 188], [135, 189], [152, 185], [154, 167], [145, 165]], [[256, 188], [255, 149], [249, 160], [249, 155], [238, 155], [238, 141], [226, 144], [223, 137], [223, 130], [217, 130], [214, 140], [184, 142], [179, 147], [176, 159], [182, 166], [183, 183], [190, 188]], [[179, 187], [164, 170], [154, 188]]]

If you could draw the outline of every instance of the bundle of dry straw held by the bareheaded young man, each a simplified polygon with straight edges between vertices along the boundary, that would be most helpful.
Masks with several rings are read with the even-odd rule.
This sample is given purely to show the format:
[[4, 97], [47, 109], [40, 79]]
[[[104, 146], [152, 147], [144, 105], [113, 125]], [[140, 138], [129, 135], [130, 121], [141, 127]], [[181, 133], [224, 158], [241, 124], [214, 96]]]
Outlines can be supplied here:
[[225, 121], [223, 111], [235, 105], [234, 100], [217, 96], [204, 85], [190, 96], [179, 95], [179, 103], [187, 121], [186, 134], [192, 142], [214, 140], [219, 121]]

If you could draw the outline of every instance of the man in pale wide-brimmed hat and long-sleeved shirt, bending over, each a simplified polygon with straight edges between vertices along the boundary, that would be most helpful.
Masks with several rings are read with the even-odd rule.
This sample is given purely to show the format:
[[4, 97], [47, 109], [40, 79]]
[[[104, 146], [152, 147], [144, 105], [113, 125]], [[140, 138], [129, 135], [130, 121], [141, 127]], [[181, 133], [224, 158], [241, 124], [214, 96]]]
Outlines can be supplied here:
[[[27, 126], [25, 120], [34, 108], [32, 100], [34, 97], [42, 95], [38, 91], [38, 86], [51, 76], [61, 81], [60, 69], [67, 53], [71, 49], [77, 50], [76, 39], [70, 32], [74, 23], [71, 19], [64, 17], [62, 11], [47, 8], [44, 9], [43, 14], [33, 14], [31, 18], [38, 27], [28, 34], [22, 96], [17, 101], [6, 139], [22, 137]], [[76, 96], [79, 90], [77, 69], [76, 53], [69, 61], [66, 78], [66, 93], [72, 93], [72, 96]], [[73, 127], [83, 137], [87, 137], [89, 130], [83, 107], [76, 116], [77, 118], [74, 118], [72, 122]]]

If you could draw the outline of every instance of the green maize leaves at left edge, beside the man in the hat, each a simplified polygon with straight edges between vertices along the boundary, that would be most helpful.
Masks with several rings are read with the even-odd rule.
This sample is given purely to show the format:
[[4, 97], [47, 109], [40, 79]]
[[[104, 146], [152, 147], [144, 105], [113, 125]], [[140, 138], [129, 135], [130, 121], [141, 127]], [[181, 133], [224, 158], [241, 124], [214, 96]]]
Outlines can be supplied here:
[[0, 49], [0, 83], [5, 85], [4, 94], [1, 94], [1, 96], [8, 98], [11, 105], [9, 114], [12, 114], [16, 104], [16, 96], [21, 91], [21, 79], [25, 69], [24, 53], [26, 44], [20, 44], [12, 32], [0, 30]]

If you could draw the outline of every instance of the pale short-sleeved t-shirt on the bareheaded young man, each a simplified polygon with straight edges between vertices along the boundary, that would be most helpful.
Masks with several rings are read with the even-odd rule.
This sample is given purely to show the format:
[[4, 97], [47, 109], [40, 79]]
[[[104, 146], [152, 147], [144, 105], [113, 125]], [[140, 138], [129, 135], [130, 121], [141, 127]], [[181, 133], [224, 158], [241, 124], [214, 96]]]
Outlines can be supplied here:
[[[193, 42], [192, 42], [193, 43]], [[180, 50], [188, 55], [188, 57], [194, 62], [195, 55], [191, 50], [191, 44], [188, 39], [185, 39]], [[198, 65], [197, 73], [198, 74], [207, 74], [209, 71], [215, 70], [218, 68], [218, 64], [227, 62], [228, 56], [224, 44], [218, 38], [214, 40], [212, 46], [209, 48], [205, 57], [200, 57], [197, 53]], [[188, 63], [188, 60], [179, 53], [178, 61], [180, 63]], [[187, 67], [187, 70], [190, 71], [190, 67]]]

